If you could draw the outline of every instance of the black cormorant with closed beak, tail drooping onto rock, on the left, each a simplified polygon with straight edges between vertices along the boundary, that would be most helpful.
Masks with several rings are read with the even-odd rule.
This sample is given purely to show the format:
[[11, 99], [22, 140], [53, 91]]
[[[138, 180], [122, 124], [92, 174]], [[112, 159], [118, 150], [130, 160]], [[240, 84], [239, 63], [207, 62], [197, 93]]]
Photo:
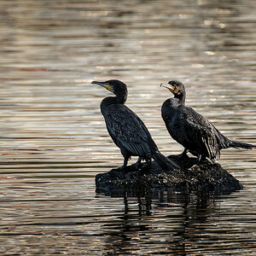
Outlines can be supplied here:
[[124, 165], [119, 167], [119, 170], [127, 166], [132, 155], [138, 156], [136, 167], [142, 160], [146, 160], [149, 169], [153, 158], [165, 171], [179, 168], [172, 160], [160, 154], [146, 125], [136, 113], [124, 105], [128, 94], [126, 84], [119, 80], [93, 81], [91, 84], [101, 85], [115, 95], [102, 100], [101, 111], [110, 137], [125, 158]]

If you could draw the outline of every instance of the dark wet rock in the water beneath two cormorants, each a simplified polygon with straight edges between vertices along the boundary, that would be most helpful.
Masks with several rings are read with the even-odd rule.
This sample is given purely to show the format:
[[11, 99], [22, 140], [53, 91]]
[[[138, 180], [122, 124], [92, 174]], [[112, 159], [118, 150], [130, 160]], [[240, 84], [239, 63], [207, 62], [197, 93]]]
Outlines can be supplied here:
[[134, 165], [127, 166], [123, 171], [112, 169], [96, 175], [96, 192], [140, 193], [167, 190], [227, 194], [243, 188], [241, 183], [218, 163], [205, 161], [195, 166], [195, 158], [179, 160], [175, 155], [169, 158], [176, 162], [181, 170], [164, 172], [154, 161], [150, 170], [144, 163], [139, 170]]

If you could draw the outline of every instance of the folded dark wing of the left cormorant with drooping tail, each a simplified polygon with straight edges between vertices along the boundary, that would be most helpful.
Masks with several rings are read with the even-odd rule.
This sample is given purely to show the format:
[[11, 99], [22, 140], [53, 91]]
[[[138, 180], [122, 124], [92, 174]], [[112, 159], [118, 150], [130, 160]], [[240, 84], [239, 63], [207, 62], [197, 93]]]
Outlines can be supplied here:
[[143, 121], [125, 105], [113, 105], [105, 114], [108, 131], [116, 142], [134, 155], [151, 157], [154, 143]]

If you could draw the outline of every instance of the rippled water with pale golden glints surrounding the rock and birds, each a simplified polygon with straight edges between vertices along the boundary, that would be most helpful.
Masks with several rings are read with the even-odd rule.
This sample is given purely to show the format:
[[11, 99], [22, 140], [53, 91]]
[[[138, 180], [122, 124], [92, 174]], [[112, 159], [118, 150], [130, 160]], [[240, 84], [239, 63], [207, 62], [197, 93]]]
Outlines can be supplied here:
[[[161, 82], [230, 138], [256, 143], [256, 3], [0, 0], [2, 255], [255, 255], [256, 151], [218, 162], [231, 195], [97, 195], [122, 164], [92, 80], [120, 79], [163, 154]], [[84, 84], [85, 83], [85, 84]], [[131, 161], [132, 162], [132, 161]]]

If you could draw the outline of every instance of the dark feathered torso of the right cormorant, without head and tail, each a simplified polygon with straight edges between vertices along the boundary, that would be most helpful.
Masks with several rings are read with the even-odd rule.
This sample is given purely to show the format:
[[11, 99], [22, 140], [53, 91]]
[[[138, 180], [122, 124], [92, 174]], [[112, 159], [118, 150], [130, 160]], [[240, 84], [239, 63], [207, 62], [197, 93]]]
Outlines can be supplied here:
[[162, 109], [162, 116], [172, 138], [192, 153], [214, 159], [219, 150], [229, 143], [211, 122], [193, 108], [184, 105], [172, 107], [171, 104], [166, 111]]

